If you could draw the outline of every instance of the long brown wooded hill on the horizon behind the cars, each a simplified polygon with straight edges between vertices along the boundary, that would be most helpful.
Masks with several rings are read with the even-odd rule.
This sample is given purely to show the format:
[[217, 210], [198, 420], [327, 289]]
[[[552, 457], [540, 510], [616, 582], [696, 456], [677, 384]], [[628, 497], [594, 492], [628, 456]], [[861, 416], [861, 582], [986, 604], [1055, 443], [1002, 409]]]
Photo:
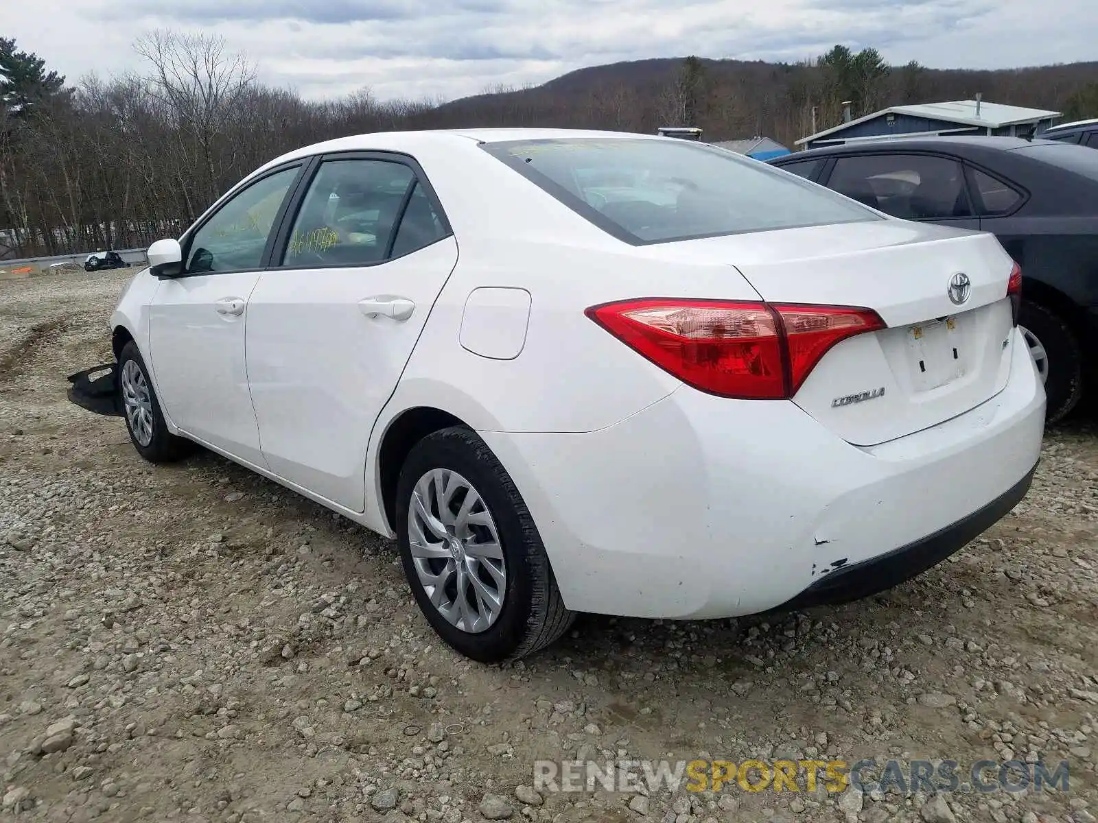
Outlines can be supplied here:
[[843, 100], [854, 116], [886, 105], [939, 100], [984, 100], [1098, 115], [1098, 61], [1023, 68], [932, 69], [889, 67], [874, 49], [841, 46], [799, 64], [697, 57], [653, 58], [576, 69], [540, 86], [498, 89], [419, 112], [435, 127], [544, 125], [651, 132], [660, 125], [697, 125], [706, 139], [765, 134], [792, 144], [834, 125]]

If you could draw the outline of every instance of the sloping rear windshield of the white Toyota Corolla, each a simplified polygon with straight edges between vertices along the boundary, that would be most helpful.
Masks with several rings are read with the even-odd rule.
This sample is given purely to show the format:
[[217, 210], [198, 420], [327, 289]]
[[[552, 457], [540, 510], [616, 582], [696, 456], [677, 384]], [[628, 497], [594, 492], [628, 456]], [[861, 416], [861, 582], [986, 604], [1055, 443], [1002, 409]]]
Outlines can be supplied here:
[[634, 245], [886, 219], [760, 160], [673, 137], [508, 140], [482, 148]]

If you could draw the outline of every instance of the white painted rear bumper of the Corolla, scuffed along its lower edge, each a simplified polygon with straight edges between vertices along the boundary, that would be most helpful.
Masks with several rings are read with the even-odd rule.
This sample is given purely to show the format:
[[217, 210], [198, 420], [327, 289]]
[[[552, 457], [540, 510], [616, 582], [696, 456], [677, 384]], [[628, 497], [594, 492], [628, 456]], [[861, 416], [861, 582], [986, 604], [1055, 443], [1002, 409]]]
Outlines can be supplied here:
[[1031, 471], [1044, 392], [1013, 348], [1001, 393], [872, 449], [792, 403], [688, 387], [596, 432], [482, 437], [523, 494], [569, 608], [754, 613], [963, 520]]

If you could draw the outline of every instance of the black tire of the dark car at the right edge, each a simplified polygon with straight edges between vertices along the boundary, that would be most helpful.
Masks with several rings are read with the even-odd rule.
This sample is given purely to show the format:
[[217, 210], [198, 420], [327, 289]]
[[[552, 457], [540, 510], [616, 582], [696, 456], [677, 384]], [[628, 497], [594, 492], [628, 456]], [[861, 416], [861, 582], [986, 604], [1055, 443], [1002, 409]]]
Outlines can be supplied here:
[[1078, 339], [1060, 315], [1030, 301], [1022, 301], [1018, 325], [1022, 327], [1030, 351], [1034, 352], [1039, 370], [1043, 349], [1044, 393], [1049, 398], [1045, 421], [1058, 422], [1083, 397], [1083, 353]]

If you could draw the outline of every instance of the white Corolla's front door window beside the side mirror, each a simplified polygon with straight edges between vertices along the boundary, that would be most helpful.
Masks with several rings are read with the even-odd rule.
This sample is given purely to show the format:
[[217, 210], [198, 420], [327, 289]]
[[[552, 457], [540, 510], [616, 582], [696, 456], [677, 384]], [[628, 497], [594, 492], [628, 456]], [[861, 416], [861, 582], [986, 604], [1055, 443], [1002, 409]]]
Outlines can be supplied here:
[[262, 266], [267, 238], [298, 171], [294, 166], [265, 177], [219, 208], [190, 240], [187, 273], [243, 271]]

